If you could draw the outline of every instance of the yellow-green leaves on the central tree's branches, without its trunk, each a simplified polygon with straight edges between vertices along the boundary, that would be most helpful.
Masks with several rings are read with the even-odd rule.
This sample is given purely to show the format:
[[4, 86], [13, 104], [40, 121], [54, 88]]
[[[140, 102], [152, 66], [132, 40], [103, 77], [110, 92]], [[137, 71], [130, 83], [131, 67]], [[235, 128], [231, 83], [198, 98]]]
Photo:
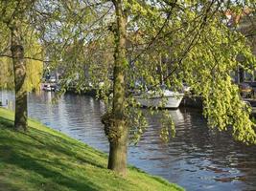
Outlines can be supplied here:
[[[47, 41], [53, 43], [47, 53], [61, 60], [58, 66], [65, 70], [65, 88], [68, 81], [76, 81], [78, 91], [96, 89], [111, 108], [109, 94], [117, 43], [114, 36], [118, 27], [113, 5], [117, 1], [100, 1], [96, 5], [84, 2], [52, 6], [58, 7], [58, 13], [51, 26], [60, 21], [61, 25], [57, 25], [55, 37]], [[238, 67], [254, 69], [255, 57], [243, 34], [227, 27], [224, 15], [225, 11], [239, 13], [246, 6], [253, 8], [253, 3], [165, 0], [118, 3], [128, 18], [126, 115], [130, 116], [127, 118], [132, 134], [136, 132], [134, 138], [140, 138], [146, 131], [147, 121], [129, 90], [145, 92], [151, 88], [160, 93], [160, 85], [164, 83], [169, 89], [180, 91], [185, 82], [196, 95], [202, 96], [203, 114], [209, 126], [221, 131], [233, 128], [234, 138], [255, 143], [255, 125], [249, 118], [249, 109], [229, 77]], [[244, 57], [243, 62], [238, 61], [239, 55]], [[99, 86], [100, 83], [103, 85]], [[169, 125], [163, 125], [161, 137], [170, 132], [174, 135], [172, 120], [163, 119], [163, 123]]]

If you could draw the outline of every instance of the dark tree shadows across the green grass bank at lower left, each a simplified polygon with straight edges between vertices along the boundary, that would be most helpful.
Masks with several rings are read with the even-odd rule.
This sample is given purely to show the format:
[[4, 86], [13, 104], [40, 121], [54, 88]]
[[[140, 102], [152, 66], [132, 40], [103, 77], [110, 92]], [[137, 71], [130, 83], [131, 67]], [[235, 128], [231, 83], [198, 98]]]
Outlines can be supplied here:
[[[58, 160], [49, 161], [45, 159], [37, 159], [40, 155], [33, 156], [33, 152], [45, 150], [46, 152], [53, 153], [58, 159], [58, 155], [65, 155], [68, 159], [80, 160], [84, 163], [91, 164], [96, 167], [105, 168], [103, 165], [98, 164], [94, 159], [83, 159], [82, 156], [79, 156], [76, 151], [72, 151], [73, 145], [68, 140], [64, 138], [59, 138], [58, 136], [48, 134], [46, 132], [37, 130], [33, 128], [31, 132], [14, 132], [12, 120], [0, 117], [0, 128], [7, 129], [10, 131], [10, 134], [7, 134], [7, 137], [2, 136], [0, 141], [0, 154], [1, 162], [6, 164], [12, 164], [16, 167], [22, 168], [26, 171], [33, 171], [38, 175], [41, 175], [43, 178], [51, 180], [53, 183], [58, 184], [59, 186], [64, 186], [72, 190], [101, 190], [102, 188], [94, 184], [91, 180], [82, 177], [81, 179], [75, 179], [64, 175], [55, 169], [55, 167], [61, 167], [64, 169], [69, 169], [69, 166], [66, 166]], [[13, 132], [12, 132], [13, 131]], [[19, 136], [13, 136], [13, 133], [20, 134]], [[1, 137], [1, 136], [0, 136]], [[29, 139], [28, 139], [29, 138]], [[30, 140], [30, 141], [28, 141]], [[81, 149], [81, 148], [80, 148]], [[86, 147], [84, 146], [84, 152]], [[32, 152], [31, 155], [26, 155], [24, 152]], [[46, 163], [47, 162], [47, 163]], [[45, 164], [45, 165], [44, 165]], [[52, 168], [53, 167], [53, 168]], [[72, 170], [72, 169], [71, 169]], [[78, 169], [74, 169], [78, 171]], [[40, 185], [41, 180], [39, 179], [29, 179], [35, 184]], [[12, 183], [9, 187], [12, 188]], [[5, 184], [6, 185], [6, 184]], [[12, 189], [10, 189], [12, 190]]]

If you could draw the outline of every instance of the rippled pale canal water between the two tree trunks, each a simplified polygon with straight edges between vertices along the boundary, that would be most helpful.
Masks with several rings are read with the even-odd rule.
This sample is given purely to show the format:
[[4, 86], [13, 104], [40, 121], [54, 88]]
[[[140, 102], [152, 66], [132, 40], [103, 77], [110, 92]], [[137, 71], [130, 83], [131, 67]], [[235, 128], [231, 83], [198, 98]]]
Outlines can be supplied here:
[[[106, 138], [101, 122], [105, 111], [104, 103], [91, 96], [75, 94], [60, 96], [56, 102], [51, 102], [52, 97], [55, 97], [55, 93], [42, 92], [39, 97], [32, 95], [30, 102], [36, 118], [73, 138], [81, 139], [105, 151]], [[35, 109], [40, 107], [41, 113], [46, 112], [44, 117]]]

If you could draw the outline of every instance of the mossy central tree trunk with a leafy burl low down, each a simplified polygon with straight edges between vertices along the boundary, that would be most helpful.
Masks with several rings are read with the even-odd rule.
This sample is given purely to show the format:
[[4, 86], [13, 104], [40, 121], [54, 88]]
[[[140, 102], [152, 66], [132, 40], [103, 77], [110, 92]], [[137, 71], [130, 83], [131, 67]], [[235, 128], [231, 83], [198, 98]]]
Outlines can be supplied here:
[[125, 117], [125, 70], [127, 18], [122, 10], [122, 0], [113, 1], [116, 11], [115, 54], [114, 54], [114, 87], [112, 123], [110, 128], [115, 136], [108, 137], [110, 148], [108, 169], [122, 176], [127, 175], [128, 126]]

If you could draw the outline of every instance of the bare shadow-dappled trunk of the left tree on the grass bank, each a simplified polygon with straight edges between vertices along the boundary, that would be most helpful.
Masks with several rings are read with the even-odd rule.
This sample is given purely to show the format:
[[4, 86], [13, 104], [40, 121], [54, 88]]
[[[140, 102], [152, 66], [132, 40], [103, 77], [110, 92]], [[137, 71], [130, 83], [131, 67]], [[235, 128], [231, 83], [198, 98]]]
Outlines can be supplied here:
[[22, 45], [22, 37], [19, 25], [12, 24], [10, 28], [12, 32], [12, 62], [14, 72], [15, 85], [15, 119], [14, 128], [16, 130], [27, 130], [28, 126], [28, 106], [27, 106], [27, 90], [25, 85], [26, 64], [24, 61], [24, 49]]

